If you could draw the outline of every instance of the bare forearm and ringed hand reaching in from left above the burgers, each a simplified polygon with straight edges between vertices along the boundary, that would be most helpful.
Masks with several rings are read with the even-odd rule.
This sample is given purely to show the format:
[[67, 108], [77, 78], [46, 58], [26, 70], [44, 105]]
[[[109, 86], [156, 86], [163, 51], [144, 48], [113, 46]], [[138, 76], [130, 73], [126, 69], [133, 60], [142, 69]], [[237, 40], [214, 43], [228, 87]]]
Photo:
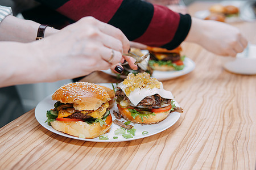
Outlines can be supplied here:
[[[119, 29], [92, 17], [43, 40], [2, 41], [0, 46], [0, 87], [53, 82], [107, 70], [123, 61], [122, 54], [130, 47]], [[128, 58], [126, 61], [129, 62]], [[134, 61], [129, 62], [132, 67], [131, 63]]]

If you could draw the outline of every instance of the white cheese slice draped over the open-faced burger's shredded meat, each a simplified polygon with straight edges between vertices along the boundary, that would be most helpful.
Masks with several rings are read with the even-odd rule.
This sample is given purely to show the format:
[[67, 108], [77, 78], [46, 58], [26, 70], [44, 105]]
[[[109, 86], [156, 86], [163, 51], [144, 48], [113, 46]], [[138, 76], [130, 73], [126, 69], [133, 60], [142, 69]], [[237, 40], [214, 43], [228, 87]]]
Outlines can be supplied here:
[[126, 94], [125, 88], [127, 87], [126, 84], [123, 82], [119, 83], [117, 87], [120, 87], [125, 95], [129, 98], [131, 103], [135, 106], [139, 104], [147, 96], [152, 96], [155, 94], [159, 94], [161, 97], [165, 99], [174, 99], [174, 96], [170, 91], [163, 89], [163, 83], [160, 82], [160, 88], [135, 88], [134, 91], [131, 91], [129, 95]]

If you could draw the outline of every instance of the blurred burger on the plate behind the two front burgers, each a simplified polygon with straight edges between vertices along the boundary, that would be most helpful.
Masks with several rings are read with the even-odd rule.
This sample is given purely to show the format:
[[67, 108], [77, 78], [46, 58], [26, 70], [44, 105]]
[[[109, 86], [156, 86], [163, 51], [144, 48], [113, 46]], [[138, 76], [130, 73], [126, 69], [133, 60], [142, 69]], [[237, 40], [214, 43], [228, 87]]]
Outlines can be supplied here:
[[174, 71], [184, 69], [184, 59], [185, 56], [181, 56], [180, 52], [182, 50], [181, 46], [173, 50], [167, 50], [159, 47], [147, 47], [150, 52], [149, 65], [154, 70], [159, 71]]

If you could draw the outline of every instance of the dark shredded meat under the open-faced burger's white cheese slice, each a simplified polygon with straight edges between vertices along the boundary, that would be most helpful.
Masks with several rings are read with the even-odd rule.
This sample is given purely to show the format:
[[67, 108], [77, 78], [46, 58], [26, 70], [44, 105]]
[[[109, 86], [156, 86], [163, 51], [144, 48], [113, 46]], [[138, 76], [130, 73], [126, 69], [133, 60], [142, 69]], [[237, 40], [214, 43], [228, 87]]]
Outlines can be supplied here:
[[[115, 96], [117, 97], [123, 97], [123, 100], [127, 100], [129, 103], [130, 100], [129, 98], [125, 95], [125, 93], [121, 90], [121, 88], [117, 87], [117, 92], [115, 92]], [[162, 104], [171, 104], [171, 99], [164, 99], [158, 94], [152, 95], [152, 96], [147, 96], [145, 97], [142, 101], [139, 102], [139, 105], [141, 106], [146, 106], [148, 109], [152, 109], [154, 107], [161, 107]]]

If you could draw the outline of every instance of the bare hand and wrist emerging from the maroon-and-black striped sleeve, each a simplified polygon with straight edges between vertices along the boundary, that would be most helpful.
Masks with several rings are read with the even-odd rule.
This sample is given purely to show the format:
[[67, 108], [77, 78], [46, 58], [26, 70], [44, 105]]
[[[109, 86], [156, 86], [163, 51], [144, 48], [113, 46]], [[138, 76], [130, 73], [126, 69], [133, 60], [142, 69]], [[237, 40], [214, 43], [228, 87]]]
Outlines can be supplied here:
[[212, 53], [236, 57], [247, 46], [240, 30], [232, 25], [213, 20], [192, 18], [186, 41], [195, 42]]

